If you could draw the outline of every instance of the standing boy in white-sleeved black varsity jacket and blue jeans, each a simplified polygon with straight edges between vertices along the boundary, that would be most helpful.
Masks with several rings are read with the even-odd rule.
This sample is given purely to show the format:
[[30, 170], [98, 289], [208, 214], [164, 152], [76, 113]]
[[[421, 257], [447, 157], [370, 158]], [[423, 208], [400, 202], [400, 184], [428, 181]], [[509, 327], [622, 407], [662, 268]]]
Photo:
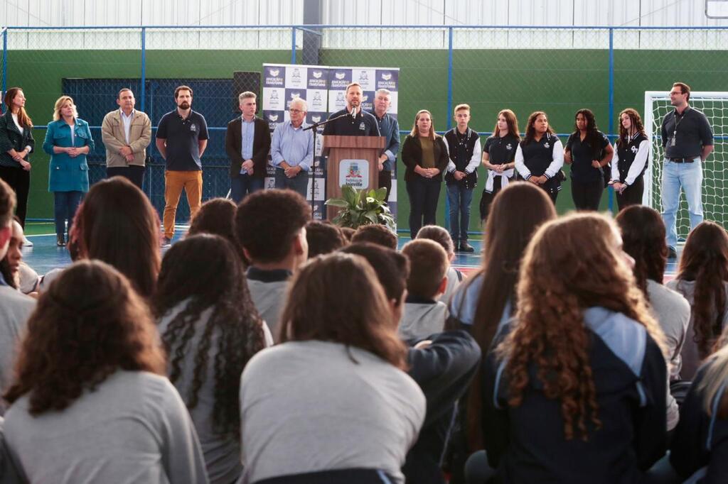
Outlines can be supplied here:
[[450, 204], [450, 236], [456, 250], [473, 252], [475, 249], [467, 243], [467, 229], [470, 225], [472, 190], [478, 185], [476, 170], [480, 164], [480, 138], [478, 133], [467, 127], [470, 123], [469, 105], [457, 105], [454, 115], [457, 126], [443, 137], [450, 156], [445, 174]]

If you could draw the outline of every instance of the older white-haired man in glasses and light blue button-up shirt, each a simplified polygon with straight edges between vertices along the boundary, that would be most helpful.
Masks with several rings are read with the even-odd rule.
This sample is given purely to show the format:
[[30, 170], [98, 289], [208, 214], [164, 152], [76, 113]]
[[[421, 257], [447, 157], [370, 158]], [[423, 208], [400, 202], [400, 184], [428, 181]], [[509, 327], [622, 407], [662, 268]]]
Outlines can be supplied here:
[[300, 97], [290, 102], [290, 121], [279, 124], [273, 132], [271, 157], [275, 166], [275, 187], [290, 188], [306, 198], [309, 172], [314, 162], [314, 137], [304, 131], [306, 101]]

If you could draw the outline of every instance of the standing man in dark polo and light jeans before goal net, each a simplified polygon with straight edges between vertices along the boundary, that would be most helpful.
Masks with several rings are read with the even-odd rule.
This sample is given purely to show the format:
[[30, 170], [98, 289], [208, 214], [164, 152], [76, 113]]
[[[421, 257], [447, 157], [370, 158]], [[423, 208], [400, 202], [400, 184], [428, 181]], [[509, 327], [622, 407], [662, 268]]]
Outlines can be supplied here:
[[690, 230], [703, 222], [703, 161], [713, 152], [713, 131], [708, 118], [688, 104], [690, 86], [676, 82], [670, 90], [675, 110], [662, 119], [662, 221], [667, 232], [668, 258], [677, 257], [676, 215], [680, 189], [685, 191]]

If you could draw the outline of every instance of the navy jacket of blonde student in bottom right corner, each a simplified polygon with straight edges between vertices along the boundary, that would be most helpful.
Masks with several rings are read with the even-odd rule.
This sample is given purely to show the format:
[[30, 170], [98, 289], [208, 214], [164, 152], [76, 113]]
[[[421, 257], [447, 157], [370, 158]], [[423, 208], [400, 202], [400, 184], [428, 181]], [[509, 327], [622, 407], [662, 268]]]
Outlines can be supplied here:
[[711, 402], [712, 415], [705, 411], [705, 392], [700, 389], [705, 371], [713, 362], [705, 363], [693, 379], [680, 409], [680, 422], [673, 435], [670, 464], [680, 477], [695, 475], [701, 484], [728, 482], [728, 420], [716, 415], [728, 380]]

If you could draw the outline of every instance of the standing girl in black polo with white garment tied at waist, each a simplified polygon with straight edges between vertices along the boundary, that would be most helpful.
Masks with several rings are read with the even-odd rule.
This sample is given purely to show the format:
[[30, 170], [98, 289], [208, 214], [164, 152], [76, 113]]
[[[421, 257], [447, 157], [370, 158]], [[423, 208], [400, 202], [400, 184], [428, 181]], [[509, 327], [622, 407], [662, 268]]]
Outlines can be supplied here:
[[488, 169], [488, 179], [483, 188], [483, 197], [480, 198], [480, 220], [485, 223], [488, 218], [493, 197], [508, 186], [513, 178], [515, 168], [515, 150], [521, 142], [521, 133], [518, 132], [518, 119], [510, 109], [498, 113], [493, 136], [486, 140], [483, 147], [483, 166]]

